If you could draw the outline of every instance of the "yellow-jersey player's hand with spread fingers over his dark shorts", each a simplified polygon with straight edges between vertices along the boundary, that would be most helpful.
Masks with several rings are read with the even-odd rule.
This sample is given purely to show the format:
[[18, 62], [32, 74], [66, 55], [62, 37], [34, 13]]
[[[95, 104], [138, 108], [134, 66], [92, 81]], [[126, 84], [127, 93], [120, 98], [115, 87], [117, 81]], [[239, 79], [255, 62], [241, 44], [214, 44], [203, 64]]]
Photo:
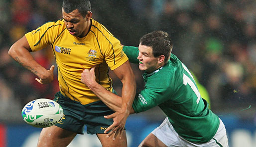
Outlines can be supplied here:
[[113, 135], [113, 140], [116, 139], [116, 137], [119, 135], [120, 139], [123, 135], [124, 129], [125, 129], [125, 125], [126, 125], [126, 120], [128, 117], [129, 113], [127, 111], [117, 111], [111, 115], [108, 116], [104, 116], [105, 118], [111, 119], [113, 118], [114, 123], [108, 127], [108, 129], [106, 129], [104, 131], [104, 133], [108, 133], [107, 138], [109, 138], [111, 135]]

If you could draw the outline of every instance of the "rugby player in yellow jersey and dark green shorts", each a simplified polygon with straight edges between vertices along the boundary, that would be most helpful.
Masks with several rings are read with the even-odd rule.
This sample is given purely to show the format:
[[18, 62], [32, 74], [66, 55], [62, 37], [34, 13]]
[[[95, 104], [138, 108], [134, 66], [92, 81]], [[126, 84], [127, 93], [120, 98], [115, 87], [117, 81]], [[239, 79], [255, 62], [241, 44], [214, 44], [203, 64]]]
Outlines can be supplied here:
[[[76, 134], [83, 134], [85, 125], [88, 134], [97, 134], [103, 147], [127, 147], [124, 127], [136, 89], [128, 57], [120, 41], [91, 18], [89, 0], [64, 0], [62, 16], [62, 20], [47, 22], [25, 34], [8, 51], [14, 60], [38, 76], [36, 80], [41, 84], [53, 80], [54, 66], [45, 69], [29, 52], [50, 45], [56, 59], [60, 92], [54, 100], [63, 107], [64, 116], [56, 125], [42, 129], [37, 147], [66, 147]], [[108, 68], [123, 83], [122, 109], [115, 113], [81, 82], [83, 70], [95, 65], [96, 80], [106, 90], [115, 93]], [[104, 118], [110, 114], [115, 117]], [[109, 126], [116, 132], [114, 138], [104, 134]], [[117, 136], [120, 139], [114, 140]]]

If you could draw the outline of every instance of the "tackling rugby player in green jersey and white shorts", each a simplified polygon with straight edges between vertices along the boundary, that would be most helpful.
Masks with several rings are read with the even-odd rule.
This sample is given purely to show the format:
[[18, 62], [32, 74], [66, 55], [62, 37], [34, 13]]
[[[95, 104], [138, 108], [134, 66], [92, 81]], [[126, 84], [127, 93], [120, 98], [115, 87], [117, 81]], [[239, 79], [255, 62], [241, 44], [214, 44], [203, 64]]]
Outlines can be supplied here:
[[[171, 53], [172, 43], [166, 32], [146, 34], [138, 48], [124, 46], [123, 50], [130, 62], [138, 63], [139, 69], [145, 71], [144, 89], [136, 94], [130, 114], [159, 106], [167, 116], [139, 147], [228, 147], [223, 122], [201, 98], [188, 68]], [[94, 67], [83, 71], [81, 81], [114, 111], [122, 108], [121, 97], [95, 81]], [[112, 129], [109, 127], [105, 133]]]

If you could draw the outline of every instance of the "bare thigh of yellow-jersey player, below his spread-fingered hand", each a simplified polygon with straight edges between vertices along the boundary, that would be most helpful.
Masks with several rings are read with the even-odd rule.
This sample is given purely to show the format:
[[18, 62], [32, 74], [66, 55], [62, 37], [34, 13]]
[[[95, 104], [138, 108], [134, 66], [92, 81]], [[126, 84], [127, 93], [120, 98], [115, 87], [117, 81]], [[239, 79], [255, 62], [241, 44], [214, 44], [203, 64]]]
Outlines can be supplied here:
[[102, 147], [127, 147], [127, 138], [126, 138], [126, 131], [124, 130], [122, 137], [120, 139], [119, 136], [115, 140], [113, 140], [113, 135], [109, 138], [106, 137], [107, 134], [97, 134]]

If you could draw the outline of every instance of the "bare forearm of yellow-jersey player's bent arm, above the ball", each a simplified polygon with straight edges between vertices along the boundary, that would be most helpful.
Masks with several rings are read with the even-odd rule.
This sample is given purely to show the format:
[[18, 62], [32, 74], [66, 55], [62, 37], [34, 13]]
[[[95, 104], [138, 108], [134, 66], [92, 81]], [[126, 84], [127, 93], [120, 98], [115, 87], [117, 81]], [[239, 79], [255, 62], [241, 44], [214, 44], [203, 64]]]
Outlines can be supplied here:
[[8, 54], [33, 74], [39, 78], [44, 78], [44, 72], [47, 72], [47, 70], [34, 60], [26, 48], [20, 47], [18, 46], [18, 43], [15, 43], [9, 49]]

